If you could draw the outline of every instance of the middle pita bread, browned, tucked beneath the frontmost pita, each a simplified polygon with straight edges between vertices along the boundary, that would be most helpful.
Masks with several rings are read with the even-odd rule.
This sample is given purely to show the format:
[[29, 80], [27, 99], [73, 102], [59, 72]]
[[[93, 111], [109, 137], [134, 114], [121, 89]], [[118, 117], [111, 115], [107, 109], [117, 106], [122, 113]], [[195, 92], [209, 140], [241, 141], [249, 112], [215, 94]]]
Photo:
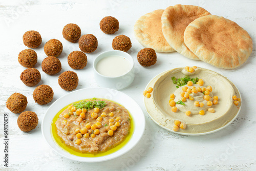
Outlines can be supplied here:
[[175, 5], [167, 7], [162, 15], [163, 35], [170, 46], [180, 54], [199, 60], [185, 45], [183, 36], [189, 23], [198, 17], [210, 15], [205, 9], [192, 5]]

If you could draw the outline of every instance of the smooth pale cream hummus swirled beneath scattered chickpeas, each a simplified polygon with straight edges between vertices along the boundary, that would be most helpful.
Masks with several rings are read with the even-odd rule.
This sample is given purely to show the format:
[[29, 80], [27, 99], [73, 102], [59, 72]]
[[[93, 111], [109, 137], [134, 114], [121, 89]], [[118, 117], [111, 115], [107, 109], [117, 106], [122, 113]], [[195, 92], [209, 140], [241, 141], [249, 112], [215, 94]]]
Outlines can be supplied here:
[[[168, 101], [170, 94], [175, 95], [175, 102], [181, 100], [180, 92], [182, 87], [176, 88], [173, 83], [172, 77], [182, 78], [189, 75], [190, 78], [198, 77], [203, 79], [204, 84], [202, 87], [211, 86], [212, 91], [209, 96], [218, 96], [218, 104], [208, 106], [207, 101], [204, 100], [203, 92], [190, 93], [193, 100], [187, 99], [184, 105], [176, 104], [177, 112], [172, 112], [172, 107]], [[187, 86], [187, 85], [185, 85]], [[152, 87], [154, 91], [151, 93], [150, 98], [144, 98], [145, 108], [150, 117], [160, 126], [167, 130], [173, 131], [174, 121], [179, 120], [186, 124], [184, 130], [179, 129], [178, 133], [207, 133], [215, 131], [228, 123], [230, 123], [240, 111], [241, 103], [234, 104], [232, 96], [236, 95], [241, 99], [238, 89], [224, 76], [203, 68], [197, 68], [195, 72], [187, 72], [184, 68], [176, 68], [173, 70], [165, 71], [155, 78], [153, 78], [147, 85], [146, 89]], [[183, 86], [184, 87], [184, 86]], [[193, 84], [191, 87], [199, 87], [198, 84]], [[189, 87], [190, 88], [190, 87]], [[204, 103], [203, 107], [195, 106], [194, 102]], [[208, 108], [214, 108], [215, 112], [211, 113]], [[205, 111], [204, 115], [200, 115], [199, 111]], [[191, 115], [187, 116], [186, 111], [190, 111]]]

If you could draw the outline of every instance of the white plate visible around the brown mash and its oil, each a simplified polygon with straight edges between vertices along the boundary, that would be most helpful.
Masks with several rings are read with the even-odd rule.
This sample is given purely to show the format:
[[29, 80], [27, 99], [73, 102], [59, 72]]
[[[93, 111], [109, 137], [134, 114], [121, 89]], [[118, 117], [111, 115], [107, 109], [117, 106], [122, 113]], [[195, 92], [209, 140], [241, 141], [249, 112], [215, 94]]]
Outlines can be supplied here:
[[[104, 98], [113, 100], [121, 105], [123, 105], [132, 115], [133, 122], [134, 122], [134, 132], [133, 136], [122, 148], [118, 151], [100, 157], [79, 157], [72, 155], [66, 151], [63, 151], [61, 147], [59, 147], [53, 140], [51, 136], [51, 123], [54, 116], [66, 105], [83, 99], [89, 98]], [[143, 132], [145, 129], [145, 117], [140, 108], [140, 106], [126, 94], [119, 92], [113, 89], [106, 89], [106, 88], [87, 88], [76, 90], [69, 94], [66, 94], [59, 99], [57, 99], [47, 110], [44, 119], [42, 120], [42, 135], [46, 139], [47, 143], [52, 147], [52, 149], [60, 154], [63, 157], [69, 158], [71, 160], [82, 161], [82, 162], [101, 162], [106, 160], [111, 160], [116, 157], [119, 157], [126, 152], [130, 151], [141, 139]]]

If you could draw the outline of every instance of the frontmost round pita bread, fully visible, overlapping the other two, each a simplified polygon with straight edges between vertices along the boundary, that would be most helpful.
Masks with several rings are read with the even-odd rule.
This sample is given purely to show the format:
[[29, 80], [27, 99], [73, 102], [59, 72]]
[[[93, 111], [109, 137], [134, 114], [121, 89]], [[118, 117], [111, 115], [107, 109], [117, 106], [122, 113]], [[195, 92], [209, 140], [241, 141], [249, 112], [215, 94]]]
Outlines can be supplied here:
[[202, 61], [218, 68], [237, 68], [252, 51], [249, 34], [237, 23], [216, 15], [191, 22], [185, 30], [184, 41]]

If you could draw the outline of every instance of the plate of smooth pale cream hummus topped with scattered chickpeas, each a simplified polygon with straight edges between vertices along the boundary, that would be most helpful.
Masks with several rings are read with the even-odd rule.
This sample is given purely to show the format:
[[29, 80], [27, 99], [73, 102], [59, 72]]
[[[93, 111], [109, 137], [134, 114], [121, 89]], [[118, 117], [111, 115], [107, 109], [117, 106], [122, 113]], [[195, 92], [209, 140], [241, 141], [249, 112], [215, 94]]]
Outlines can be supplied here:
[[143, 94], [152, 120], [182, 135], [215, 133], [236, 119], [241, 110], [241, 94], [230, 80], [196, 66], [160, 73]]

